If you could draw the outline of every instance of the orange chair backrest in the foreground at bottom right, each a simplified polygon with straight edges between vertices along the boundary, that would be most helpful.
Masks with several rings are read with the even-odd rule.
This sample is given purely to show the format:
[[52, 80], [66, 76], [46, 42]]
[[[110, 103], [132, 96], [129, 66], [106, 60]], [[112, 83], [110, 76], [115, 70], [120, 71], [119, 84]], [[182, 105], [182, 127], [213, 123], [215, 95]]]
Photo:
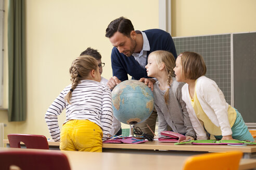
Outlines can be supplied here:
[[239, 167], [241, 157], [241, 151], [198, 154], [186, 160], [183, 170], [235, 170]]

